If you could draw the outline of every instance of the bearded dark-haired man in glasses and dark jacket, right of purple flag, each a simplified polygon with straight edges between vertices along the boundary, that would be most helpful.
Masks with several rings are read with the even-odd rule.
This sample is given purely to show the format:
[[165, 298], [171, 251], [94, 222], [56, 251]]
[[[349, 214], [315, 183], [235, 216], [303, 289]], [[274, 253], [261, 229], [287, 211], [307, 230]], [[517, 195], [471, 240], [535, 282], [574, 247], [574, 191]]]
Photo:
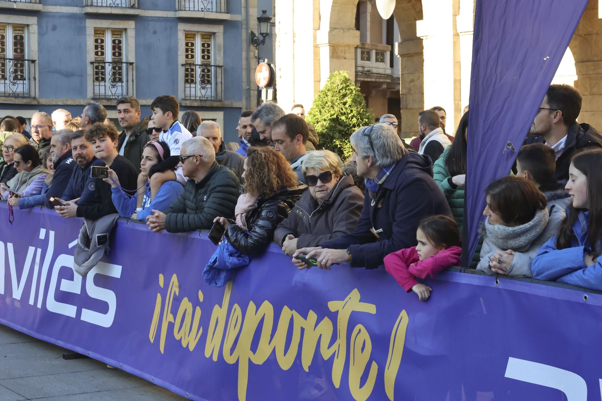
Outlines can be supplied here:
[[525, 144], [545, 143], [554, 150], [554, 179], [561, 185], [568, 181], [575, 153], [602, 147], [602, 135], [594, 127], [577, 123], [581, 102], [581, 94], [571, 85], [550, 85], [525, 140]]

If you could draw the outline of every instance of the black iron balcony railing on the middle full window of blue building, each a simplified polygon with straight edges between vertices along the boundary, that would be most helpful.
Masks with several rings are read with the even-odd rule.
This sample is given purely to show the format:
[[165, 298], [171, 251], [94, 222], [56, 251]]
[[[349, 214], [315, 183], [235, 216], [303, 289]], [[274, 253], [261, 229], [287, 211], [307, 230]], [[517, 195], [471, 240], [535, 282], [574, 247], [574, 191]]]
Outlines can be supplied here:
[[92, 99], [117, 99], [134, 95], [134, 63], [92, 61]]

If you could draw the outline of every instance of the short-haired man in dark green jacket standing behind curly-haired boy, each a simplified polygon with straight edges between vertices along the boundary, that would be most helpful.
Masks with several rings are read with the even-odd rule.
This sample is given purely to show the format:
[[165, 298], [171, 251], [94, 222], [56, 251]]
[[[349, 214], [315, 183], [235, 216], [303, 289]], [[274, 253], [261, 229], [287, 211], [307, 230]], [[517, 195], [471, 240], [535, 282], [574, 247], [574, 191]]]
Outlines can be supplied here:
[[146, 133], [149, 119], [144, 117], [140, 121], [140, 102], [134, 96], [123, 96], [117, 99], [117, 118], [123, 128], [117, 142], [119, 155], [132, 162], [136, 171], [140, 173], [144, 145], [151, 140]]

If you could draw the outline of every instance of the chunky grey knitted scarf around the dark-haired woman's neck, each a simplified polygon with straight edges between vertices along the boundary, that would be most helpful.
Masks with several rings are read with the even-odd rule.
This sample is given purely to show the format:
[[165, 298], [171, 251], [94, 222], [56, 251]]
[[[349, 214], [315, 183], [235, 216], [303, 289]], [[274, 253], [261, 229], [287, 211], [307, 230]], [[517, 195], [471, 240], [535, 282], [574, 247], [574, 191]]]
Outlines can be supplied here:
[[501, 224], [492, 225], [489, 224], [489, 218], [486, 218], [486, 236], [489, 241], [503, 251], [512, 249], [516, 252], [523, 252], [529, 249], [533, 240], [544, 231], [549, 218], [548, 209], [539, 210], [530, 222], [517, 225], [517, 227], [506, 227]]

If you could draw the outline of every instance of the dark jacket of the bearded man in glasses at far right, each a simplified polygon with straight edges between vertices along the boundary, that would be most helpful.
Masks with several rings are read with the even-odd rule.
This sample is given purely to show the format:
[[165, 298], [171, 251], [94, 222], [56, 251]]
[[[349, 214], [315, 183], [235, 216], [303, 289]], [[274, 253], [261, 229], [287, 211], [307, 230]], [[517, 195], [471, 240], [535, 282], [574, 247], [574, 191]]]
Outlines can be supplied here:
[[[529, 135], [525, 139], [524, 144], [545, 143], [543, 136]], [[566, 134], [566, 144], [562, 151], [562, 155], [556, 160], [556, 171], [554, 179], [560, 185], [564, 186], [568, 181], [568, 168], [571, 165], [571, 159], [575, 153], [586, 148], [601, 148], [602, 135], [589, 124], [574, 123], [568, 129]]]

